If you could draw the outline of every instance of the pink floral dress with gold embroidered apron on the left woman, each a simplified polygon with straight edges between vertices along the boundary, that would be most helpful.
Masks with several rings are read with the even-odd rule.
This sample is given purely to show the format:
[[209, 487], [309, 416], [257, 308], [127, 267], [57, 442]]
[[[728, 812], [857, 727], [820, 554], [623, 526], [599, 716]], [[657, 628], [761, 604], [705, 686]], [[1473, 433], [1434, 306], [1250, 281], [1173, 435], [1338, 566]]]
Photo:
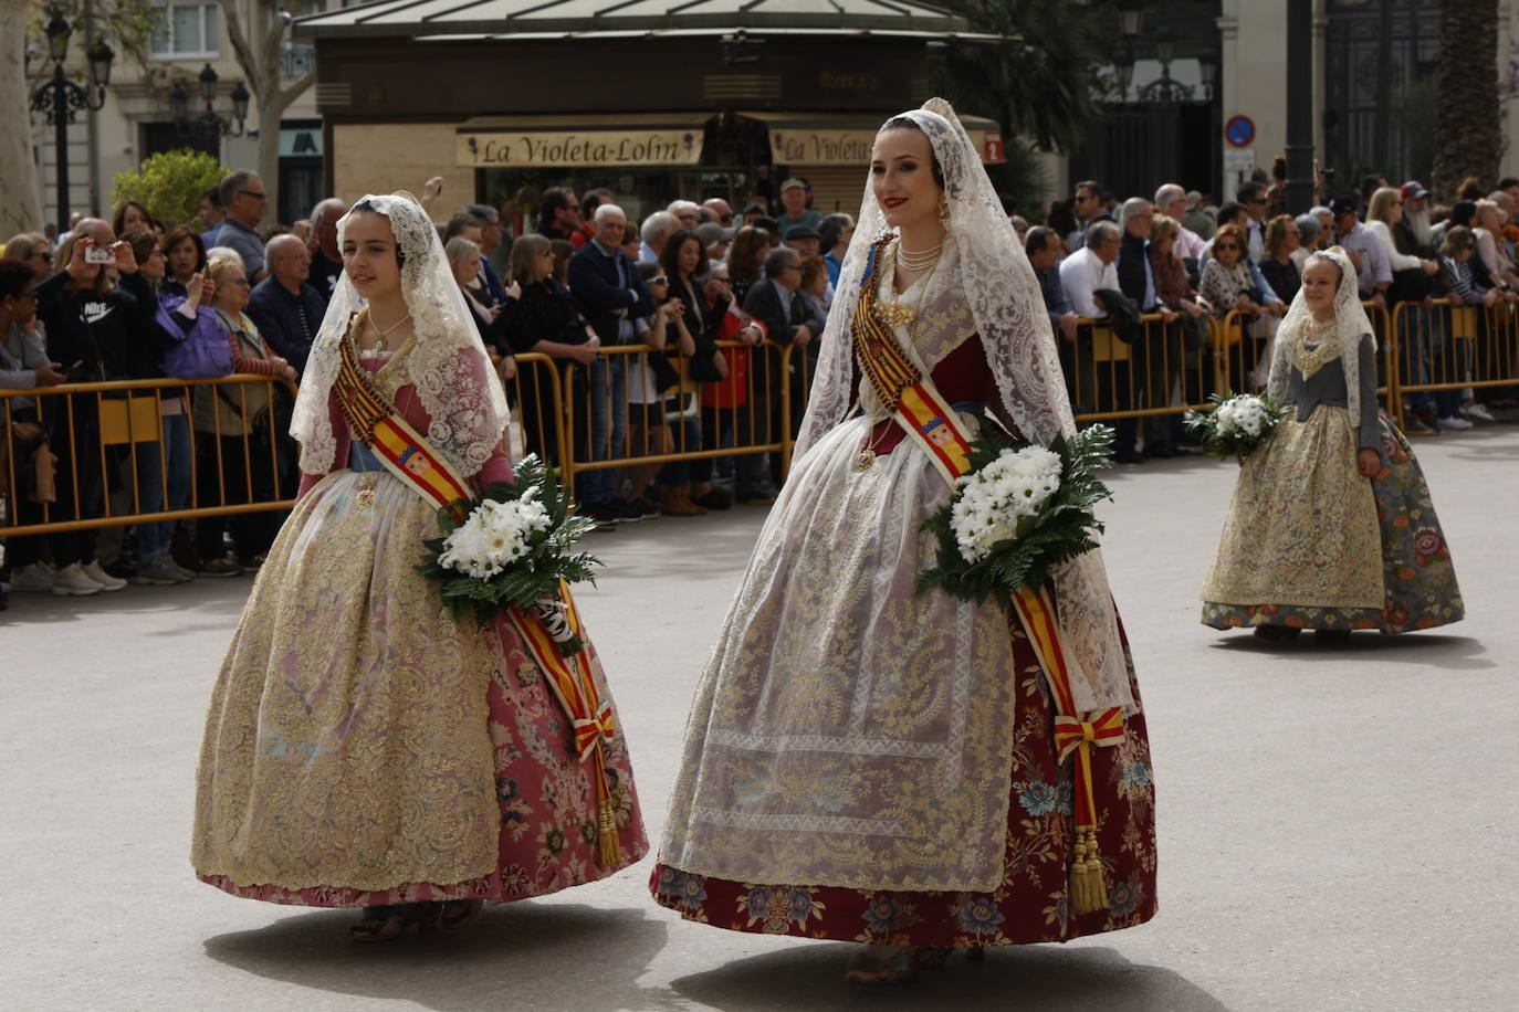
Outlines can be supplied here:
[[[378, 373], [386, 361], [363, 364]], [[427, 431], [410, 384], [395, 404]], [[621, 860], [602, 866], [594, 769], [576, 760], [536, 663], [504, 621], [450, 616], [416, 572], [436, 508], [352, 443], [333, 411], [349, 467], [304, 490], [213, 690], [196, 874], [254, 900], [363, 907], [521, 900], [641, 859], [649, 844], [621, 733], [603, 750]], [[472, 482], [509, 478], [498, 451]], [[594, 648], [588, 655], [611, 701]]]

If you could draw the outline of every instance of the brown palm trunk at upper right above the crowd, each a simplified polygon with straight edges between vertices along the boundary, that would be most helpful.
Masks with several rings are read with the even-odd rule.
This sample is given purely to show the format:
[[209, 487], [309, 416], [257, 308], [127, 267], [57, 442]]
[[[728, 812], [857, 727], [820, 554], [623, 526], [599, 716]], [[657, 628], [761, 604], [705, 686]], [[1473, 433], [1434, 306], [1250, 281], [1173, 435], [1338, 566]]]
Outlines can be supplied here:
[[1435, 200], [1451, 202], [1466, 176], [1498, 179], [1498, 0], [1445, 0], [1434, 134]]

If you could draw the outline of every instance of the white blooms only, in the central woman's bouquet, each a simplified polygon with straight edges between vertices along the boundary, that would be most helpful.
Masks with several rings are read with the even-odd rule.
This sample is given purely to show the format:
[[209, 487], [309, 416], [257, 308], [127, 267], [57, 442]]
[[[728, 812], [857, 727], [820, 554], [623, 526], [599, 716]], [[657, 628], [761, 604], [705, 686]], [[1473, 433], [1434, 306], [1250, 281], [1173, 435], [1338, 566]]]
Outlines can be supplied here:
[[1060, 490], [1060, 472], [1059, 454], [1027, 446], [1003, 451], [986, 467], [962, 478], [949, 526], [966, 561], [978, 563], [998, 542], [1018, 537], [1018, 520], [1039, 513]]

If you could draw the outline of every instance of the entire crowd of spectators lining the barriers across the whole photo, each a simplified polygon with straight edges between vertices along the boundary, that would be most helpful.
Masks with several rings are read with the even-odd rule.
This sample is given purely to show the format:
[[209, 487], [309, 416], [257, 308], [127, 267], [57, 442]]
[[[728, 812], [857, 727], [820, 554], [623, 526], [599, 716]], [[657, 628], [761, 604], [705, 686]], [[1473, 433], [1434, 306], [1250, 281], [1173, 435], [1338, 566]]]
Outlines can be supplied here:
[[[553, 187], [512, 238], [498, 208], [448, 211], [439, 191], [441, 181], [428, 181], [422, 200], [498, 357], [518, 446], [554, 463], [568, 448], [550, 423], [551, 387], [571, 375], [574, 458], [600, 464], [579, 472], [576, 498], [598, 530], [773, 499], [779, 455], [722, 452], [778, 442], [799, 423], [854, 235], [849, 215], [813, 209], [804, 179], [785, 179], [773, 205], [673, 200], [636, 218], [609, 190]], [[41, 522], [44, 510], [55, 520], [99, 520], [290, 498], [292, 388], [342, 273], [337, 220], [348, 208], [328, 197], [308, 218], [276, 226], [266, 225], [266, 205], [258, 174], [238, 170], [204, 196], [199, 222], [169, 228], [128, 202], [109, 222], [81, 217], [62, 237], [39, 231], [6, 243], [0, 387], [234, 373], [272, 381], [238, 385], [235, 398], [163, 387], [159, 438], [129, 446], [102, 440], [109, 398], [70, 398], [50, 411], [38, 404], [46, 398], [11, 399], [5, 451], [21, 464], [9, 496], [15, 520]], [[1176, 184], [1120, 200], [1082, 181], [1044, 223], [1010, 215], [1077, 413], [1195, 404], [1211, 393], [1215, 354], [1227, 357], [1230, 385], [1258, 388], [1306, 258], [1338, 244], [1356, 264], [1363, 297], [1411, 322], [1401, 329], [1405, 376], [1452, 384], [1413, 393], [1408, 426], [1460, 431], [1490, 420], [1493, 398], [1454, 388], [1470, 379], [1470, 363], [1451, 354], [1451, 316], [1431, 300], [1519, 313], [1519, 229], [1510, 225], [1519, 181], [1492, 190], [1467, 181], [1448, 208], [1429, 206], [1419, 182], [1394, 188], [1379, 178], [1297, 217], [1282, 205], [1281, 182], [1270, 179], [1247, 181], [1221, 206]], [[1136, 325], [1141, 317], [1151, 323]], [[1486, 326], [1489, 316], [1478, 319]], [[1223, 320], [1236, 337], [1220, 350], [1211, 322]], [[1127, 341], [1126, 354], [1097, 355], [1101, 332]], [[649, 350], [608, 354], [618, 346]], [[1121, 463], [1186, 452], [1176, 411], [1115, 428]], [[77, 464], [55, 469], [50, 448], [64, 445]], [[653, 460], [674, 451], [706, 455]], [[77, 596], [128, 581], [232, 577], [261, 563], [279, 519], [229, 510], [17, 537], [0, 574], [14, 590]]]

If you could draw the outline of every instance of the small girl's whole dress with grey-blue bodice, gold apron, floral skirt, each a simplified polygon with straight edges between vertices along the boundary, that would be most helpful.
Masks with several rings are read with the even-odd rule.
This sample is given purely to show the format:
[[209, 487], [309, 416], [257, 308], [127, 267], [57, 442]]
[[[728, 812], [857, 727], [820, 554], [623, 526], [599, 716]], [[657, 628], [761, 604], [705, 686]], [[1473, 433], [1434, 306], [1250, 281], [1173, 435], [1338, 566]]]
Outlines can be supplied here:
[[[1408, 633], [1461, 621], [1461, 589], [1423, 470], [1376, 410], [1369, 338], [1360, 354], [1358, 425], [1337, 361], [1312, 379], [1294, 366], [1297, 417], [1240, 469], [1203, 586], [1205, 625]], [[1372, 479], [1355, 470], [1363, 448], [1385, 464]]]

